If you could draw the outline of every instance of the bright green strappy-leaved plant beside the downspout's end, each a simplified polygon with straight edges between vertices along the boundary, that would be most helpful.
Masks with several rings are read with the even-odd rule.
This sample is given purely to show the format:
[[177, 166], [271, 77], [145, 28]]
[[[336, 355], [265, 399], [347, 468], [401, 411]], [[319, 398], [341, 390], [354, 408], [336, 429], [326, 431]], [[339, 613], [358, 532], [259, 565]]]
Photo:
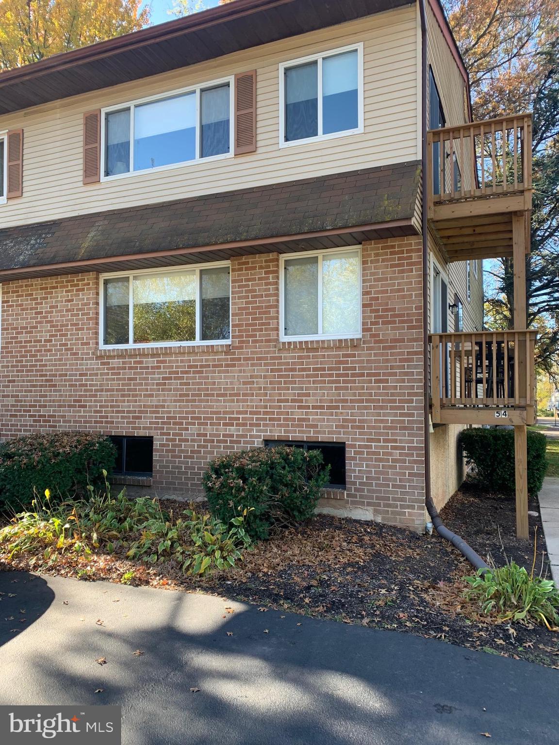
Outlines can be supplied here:
[[534, 577], [514, 561], [505, 566], [479, 569], [468, 583], [465, 595], [477, 600], [484, 615], [500, 622], [531, 620], [548, 629], [559, 625], [559, 591], [553, 580]]

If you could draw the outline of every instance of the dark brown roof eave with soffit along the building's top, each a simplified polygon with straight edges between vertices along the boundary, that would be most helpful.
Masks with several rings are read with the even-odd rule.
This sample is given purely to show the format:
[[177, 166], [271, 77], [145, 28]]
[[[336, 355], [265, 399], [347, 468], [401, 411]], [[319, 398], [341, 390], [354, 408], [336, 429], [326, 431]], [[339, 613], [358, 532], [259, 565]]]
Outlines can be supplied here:
[[236, 0], [0, 72], [0, 114], [180, 69], [407, 4], [410, 0]]

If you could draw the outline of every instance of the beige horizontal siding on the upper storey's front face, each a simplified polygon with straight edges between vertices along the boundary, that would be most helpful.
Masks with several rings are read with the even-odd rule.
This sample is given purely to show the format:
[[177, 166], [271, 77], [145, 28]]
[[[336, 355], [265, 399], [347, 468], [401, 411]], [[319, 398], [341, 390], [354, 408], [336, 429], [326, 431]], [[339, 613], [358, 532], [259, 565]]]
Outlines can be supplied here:
[[[364, 42], [364, 133], [279, 148], [279, 63]], [[236, 72], [257, 76], [256, 153], [82, 184], [83, 112]], [[0, 225], [209, 194], [420, 158], [414, 5], [0, 118], [25, 130], [24, 195]]]

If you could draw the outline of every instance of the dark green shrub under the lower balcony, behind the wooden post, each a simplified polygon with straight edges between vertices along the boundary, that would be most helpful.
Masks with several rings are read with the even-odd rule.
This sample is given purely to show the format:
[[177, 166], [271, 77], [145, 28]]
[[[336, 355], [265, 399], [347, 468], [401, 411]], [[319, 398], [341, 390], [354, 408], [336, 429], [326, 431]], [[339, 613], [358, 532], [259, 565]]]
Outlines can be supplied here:
[[[492, 492], [514, 494], [514, 431], [512, 429], [464, 429], [461, 446], [468, 463], [474, 463], [479, 479]], [[537, 494], [546, 475], [546, 436], [528, 429], [528, 493]]]

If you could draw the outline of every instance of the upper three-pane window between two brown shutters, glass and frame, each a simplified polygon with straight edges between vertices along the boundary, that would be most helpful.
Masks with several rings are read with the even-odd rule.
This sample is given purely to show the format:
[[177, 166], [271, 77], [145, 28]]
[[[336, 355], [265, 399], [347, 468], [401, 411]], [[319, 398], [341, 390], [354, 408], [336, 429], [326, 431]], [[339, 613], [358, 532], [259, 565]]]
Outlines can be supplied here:
[[104, 109], [102, 178], [231, 155], [232, 90], [220, 80]]

